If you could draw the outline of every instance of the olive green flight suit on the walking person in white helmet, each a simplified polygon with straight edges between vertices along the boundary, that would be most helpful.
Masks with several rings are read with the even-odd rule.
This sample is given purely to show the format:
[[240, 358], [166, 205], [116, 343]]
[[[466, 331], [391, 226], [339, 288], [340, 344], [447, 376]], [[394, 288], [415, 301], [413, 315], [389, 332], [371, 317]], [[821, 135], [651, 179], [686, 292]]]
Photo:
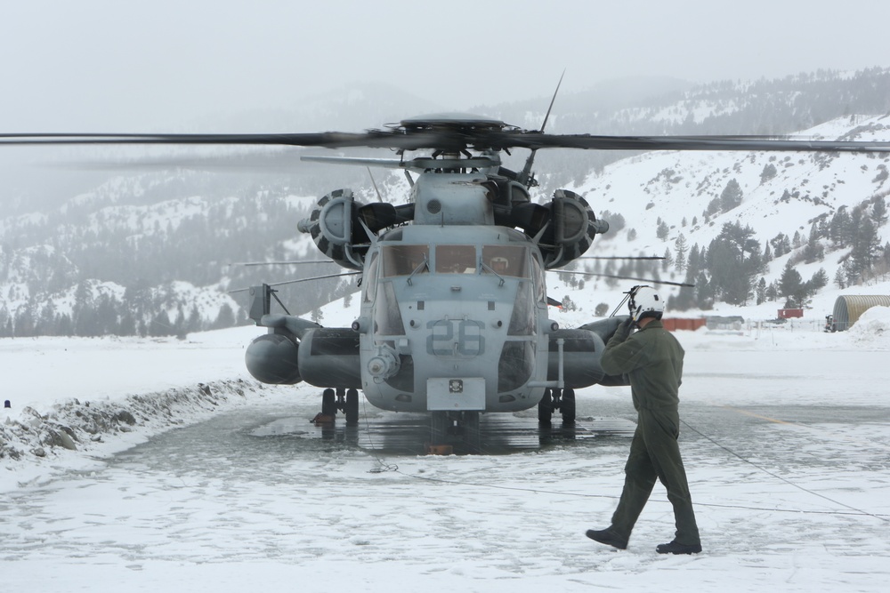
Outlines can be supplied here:
[[630, 334], [620, 325], [606, 344], [600, 364], [611, 375], [627, 374], [638, 420], [625, 466], [624, 490], [611, 529], [626, 540], [658, 478], [674, 505], [675, 541], [700, 544], [692, 498], [676, 439], [680, 434], [677, 391], [682, 382], [684, 350], [664, 325], [653, 319]]

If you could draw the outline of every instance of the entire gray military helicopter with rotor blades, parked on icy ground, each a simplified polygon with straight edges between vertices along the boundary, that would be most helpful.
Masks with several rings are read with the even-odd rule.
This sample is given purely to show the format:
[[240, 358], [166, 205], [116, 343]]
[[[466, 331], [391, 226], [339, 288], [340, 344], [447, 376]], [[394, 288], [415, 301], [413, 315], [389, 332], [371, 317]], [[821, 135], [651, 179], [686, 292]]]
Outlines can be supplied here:
[[[553, 103], [551, 103], [552, 108]], [[549, 111], [548, 111], [549, 114]], [[545, 118], [546, 124], [546, 118]], [[322, 327], [273, 314], [270, 284], [249, 289], [249, 317], [267, 328], [247, 347], [247, 370], [272, 384], [323, 389], [321, 414], [359, 419], [368, 403], [428, 413], [431, 442], [479, 440], [481, 413], [537, 406], [575, 420], [575, 389], [627, 385], [600, 366], [605, 343], [626, 318], [562, 329], [548, 314], [546, 270], [587, 252], [608, 229], [584, 197], [556, 190], [535, 204], [532, 166], [542, 148], [890, 152], [890, 142], [763, 136], [595, 136], [528, 131], [485, 116], [438, 114], [363, 133], [0, 134], [0, 144], [284, 145], [387, 148], [398, 158], [312, 156], [304, 160], [402, 169], [407, 203], [361, 204], [350, 189], [323, 196], [300, 232], [360, 276], [360, 316]], [[501, 153], [530, 150], [522, 171]], [[424, 151], [411, 156], [411, 153]]]

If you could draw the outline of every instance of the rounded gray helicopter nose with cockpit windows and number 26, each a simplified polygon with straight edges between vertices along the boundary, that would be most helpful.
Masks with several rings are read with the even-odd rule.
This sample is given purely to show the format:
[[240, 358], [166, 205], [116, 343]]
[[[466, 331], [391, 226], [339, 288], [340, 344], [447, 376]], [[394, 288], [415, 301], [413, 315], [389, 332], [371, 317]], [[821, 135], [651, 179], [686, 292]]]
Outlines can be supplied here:
[[361, 389], [393, 411], [512, 412], [546, 377], [541, 256], [511, 228], [408, 225], [368, 252]]

